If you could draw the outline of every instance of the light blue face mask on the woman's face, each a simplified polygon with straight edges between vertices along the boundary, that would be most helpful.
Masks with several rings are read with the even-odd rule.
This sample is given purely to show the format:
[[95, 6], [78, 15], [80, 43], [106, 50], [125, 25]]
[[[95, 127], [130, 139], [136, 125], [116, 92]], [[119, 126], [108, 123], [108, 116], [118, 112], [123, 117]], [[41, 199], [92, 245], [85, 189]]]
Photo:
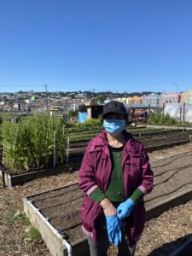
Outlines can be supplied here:
[[125, 130], [125, 120], [123, 119], [104, 119], [103, 127], [110, 134], [118, 134]]

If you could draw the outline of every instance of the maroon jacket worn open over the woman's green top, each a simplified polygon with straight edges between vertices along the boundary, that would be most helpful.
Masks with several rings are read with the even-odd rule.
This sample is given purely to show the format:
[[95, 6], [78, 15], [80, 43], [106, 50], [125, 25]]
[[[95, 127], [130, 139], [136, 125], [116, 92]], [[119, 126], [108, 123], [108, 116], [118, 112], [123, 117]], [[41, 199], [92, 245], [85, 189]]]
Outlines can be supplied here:
[[[143, 144], [134, 139], [130, 133], [123, 131], [125, 147], [122, 154], [122, 170], [125, 197], [128, 198], [135, 189], [141, 189], [144, 194], [153, 189], [153, 172], [151, 171], [148, 154]], [[103, 214], [102, 207], [90, 198], [90, 193], [98, 186], [105, 192], [111, 174], [112, 163], [108, 149], [107, 131], [94, 137], [86, 148], [84, 159], [79, 169], [79, 188], [86, 195], [82, 204], [80, 218], [82, 228], [87, 236], [97, 240], [96, 227], [98, 219]], [[130, 246], [137, 241], [144, 227], [145, 208], [143, 201], [137, 203], [131, 212]]]

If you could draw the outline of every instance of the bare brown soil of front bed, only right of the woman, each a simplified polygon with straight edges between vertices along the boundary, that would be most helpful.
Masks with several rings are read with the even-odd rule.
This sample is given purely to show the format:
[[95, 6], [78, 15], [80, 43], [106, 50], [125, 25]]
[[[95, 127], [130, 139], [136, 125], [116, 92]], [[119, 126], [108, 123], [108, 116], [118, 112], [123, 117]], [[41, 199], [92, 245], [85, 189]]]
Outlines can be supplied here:
[[153, 193], [145, 196], [148, 207], [170, 196], [192, 190], [192, 151], [151, 163], [154, 171]]

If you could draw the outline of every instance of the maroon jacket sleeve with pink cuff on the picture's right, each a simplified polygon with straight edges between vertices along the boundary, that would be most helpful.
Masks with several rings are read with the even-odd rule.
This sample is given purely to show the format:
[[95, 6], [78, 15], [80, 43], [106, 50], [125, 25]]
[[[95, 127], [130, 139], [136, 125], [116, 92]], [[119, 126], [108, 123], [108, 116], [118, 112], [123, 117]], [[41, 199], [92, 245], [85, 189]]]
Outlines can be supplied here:
[[140, 144], [141, 155], [141, 167], [142, 167], [142, 183], [138, 189], [143, 191], [143, 194], [148, 194], [153, 189], [154, 172], [151, 170], [149, 158], [146, 150], [143, 148], [143, 144]]

